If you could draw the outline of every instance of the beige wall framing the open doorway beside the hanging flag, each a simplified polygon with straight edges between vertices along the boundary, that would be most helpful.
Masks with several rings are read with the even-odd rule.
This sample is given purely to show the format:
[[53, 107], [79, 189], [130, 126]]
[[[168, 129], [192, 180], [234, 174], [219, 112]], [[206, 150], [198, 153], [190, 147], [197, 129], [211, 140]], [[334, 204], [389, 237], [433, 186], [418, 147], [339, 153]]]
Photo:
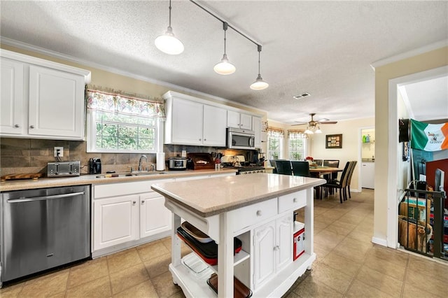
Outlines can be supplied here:
[[[398, 163], [398, 160], [396, 160], [398, 158], [395, 156], [395, 159], [390, 159], [388, 152], [390, 134], [394, 134], [391, 139], [398, 140], [398, 123], [395, 124], [395, 127], [389, 127], [389, 119], [397, 118], [397, 115], [391, 115], [390, 111], [389, 102], [391, 104], [395, 102], [396, 106], [396, 98], [389, 98], [389, 80], [447, 65], [448, 47], [444, 46], [437, 50], [431, 50], [375, 68], [375, 129], [377, 133], [373, 239], [376, 243], [386, 245], [388, 242], [388, 224], [390, 224], [388, 222], [388, 201], [393, 200], [395, 202], [397, 199], [389, 193], [389, 187], [397, 186], [391, 185], [391, 180], [396, 181], [397, 173], [390, 172], [389, 164]], [[396, 107], [394, 111], [396, 111]], [[393, 147], [396, 148], [395, 145]], [[398, 156], [401, 157], [401, 155]], [[392, 177], [393, 179], [391, 179]], [[394, 241], [393, 239], [390, 240]]]

